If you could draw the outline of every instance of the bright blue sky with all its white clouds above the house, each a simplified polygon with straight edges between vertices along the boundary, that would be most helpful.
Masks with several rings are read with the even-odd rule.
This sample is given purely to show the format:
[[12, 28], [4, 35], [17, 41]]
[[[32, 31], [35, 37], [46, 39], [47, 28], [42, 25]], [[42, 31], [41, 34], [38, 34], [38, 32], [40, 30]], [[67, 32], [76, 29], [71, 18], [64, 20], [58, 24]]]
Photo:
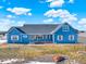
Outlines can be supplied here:
[[0, 30], [64, 22], [86, 30], [86, 0], [0, 0]]

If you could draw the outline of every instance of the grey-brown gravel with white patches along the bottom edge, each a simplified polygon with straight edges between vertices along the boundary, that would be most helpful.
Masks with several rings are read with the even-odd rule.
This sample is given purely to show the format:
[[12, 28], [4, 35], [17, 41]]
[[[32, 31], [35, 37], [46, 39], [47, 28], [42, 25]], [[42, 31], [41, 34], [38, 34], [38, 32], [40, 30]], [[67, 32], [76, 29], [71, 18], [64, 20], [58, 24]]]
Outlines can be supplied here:
[[70, 61], [65, 60], [62, 62], [53, 62], [52, 55], [42, 55], [30, 60], [24, 60], [24, 59], [8, 59], [8, 60], [0, 60], [0, 64], [79, 64], [76, 61]]

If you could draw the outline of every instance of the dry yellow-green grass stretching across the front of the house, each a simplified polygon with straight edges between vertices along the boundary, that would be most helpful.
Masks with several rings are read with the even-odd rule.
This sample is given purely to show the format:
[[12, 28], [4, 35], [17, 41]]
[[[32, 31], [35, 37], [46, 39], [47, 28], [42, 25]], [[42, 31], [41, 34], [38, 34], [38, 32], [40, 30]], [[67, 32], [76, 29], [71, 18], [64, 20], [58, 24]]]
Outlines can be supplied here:
[[67, 55], [81, 64], [86, 64], [85, 44], [1, 44], [0, 59], [33, 60], [41, 55]]

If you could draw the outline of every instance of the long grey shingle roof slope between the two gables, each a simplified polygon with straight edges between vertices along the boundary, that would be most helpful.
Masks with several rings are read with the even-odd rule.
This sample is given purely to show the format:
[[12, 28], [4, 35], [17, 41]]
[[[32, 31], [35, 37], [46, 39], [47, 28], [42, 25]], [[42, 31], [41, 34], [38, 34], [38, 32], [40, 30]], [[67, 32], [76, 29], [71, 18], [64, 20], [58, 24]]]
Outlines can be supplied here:
[[50, 34], [60, 24], [25, 24], [23, 27], [20, 27], [26, 34]]

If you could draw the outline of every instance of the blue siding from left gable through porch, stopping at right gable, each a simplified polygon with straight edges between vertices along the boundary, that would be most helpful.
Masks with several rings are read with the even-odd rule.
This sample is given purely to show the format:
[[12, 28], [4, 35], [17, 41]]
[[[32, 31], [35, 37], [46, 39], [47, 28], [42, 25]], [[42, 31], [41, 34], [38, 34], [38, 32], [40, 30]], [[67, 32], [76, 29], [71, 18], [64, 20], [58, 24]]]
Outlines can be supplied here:
[[[17, 35], [19, 36], [19, 40], [12, 40], [11, 36], [13, 35]], [[11, 28], [8, 33], [8, 43], [33, 43], [33, 42], [52, 42], [52, 35], [45, 35], [44, 39], [39, 38], [39, 39], [32, 39], [30, 38], [32, 35], [26, 35], [22, 31], [20, 31], [16, 28]]]

